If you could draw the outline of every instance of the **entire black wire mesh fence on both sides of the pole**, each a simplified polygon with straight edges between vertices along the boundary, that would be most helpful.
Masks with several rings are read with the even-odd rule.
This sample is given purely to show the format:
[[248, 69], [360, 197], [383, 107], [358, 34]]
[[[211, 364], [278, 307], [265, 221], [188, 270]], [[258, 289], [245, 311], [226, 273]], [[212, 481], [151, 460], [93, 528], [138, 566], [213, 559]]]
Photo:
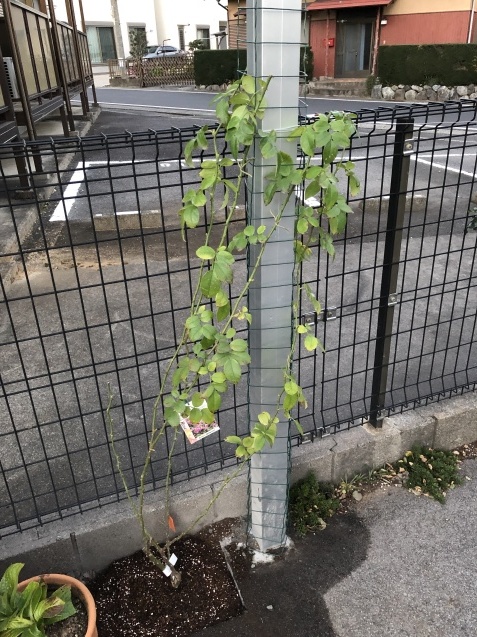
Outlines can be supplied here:
[[[345, 154], [362, 181], [350, 198], [355, 212], [334, 260], [317, 251], [302, 270], [324, 308], [302, 313], [326, 347], [297, 356], [308, 437], [369, 417], [379, 425], [391, 411], [475, 387], [476, 234], [467, 231], [475, 116], [470, 101], [358, 114]], [[177, 215], [199, 180], [182, 161], [193, 134], [150, 130], [1, 149], [1, 535], [124, 497], [108, 440], [108, 385], [135, 488], [204, 238], [202, 223], [183, 241]], [[242, 199], [235, 226], [244, 222]], [[214, 232], [222, 228], [219, 218]], [[244, 258], [240, 266], [232, 295]], [[246, 432], [246, 382], [224, 400], [219, 424], [220, 434], [176, 445], [175, 482], [234, 464], [223, 439]], [[302, 442], [298, 434], [293, 441]], [[158, 446], [151, 488], [164, 483], [169, 445], [165, 438]]]

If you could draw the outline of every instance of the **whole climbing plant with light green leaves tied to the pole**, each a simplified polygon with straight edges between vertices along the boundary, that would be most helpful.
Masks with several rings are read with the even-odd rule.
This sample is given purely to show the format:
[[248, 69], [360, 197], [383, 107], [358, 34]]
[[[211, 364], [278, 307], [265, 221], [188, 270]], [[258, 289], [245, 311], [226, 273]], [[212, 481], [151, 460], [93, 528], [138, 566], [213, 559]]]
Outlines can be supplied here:
[[[280, 150], [276, 131], [260, 129], [259, 122], [267, 107], [265, 94], [270, 81], [270, 78], [264, 81], [244, 75], [232, 84], [215, 99], [218, 125], [215, 128], [203, 126], [185, 147], [185, 162], [190, 168], [197, 168], [198, 165], [200, 183], [183, 197], [183, 206], [179, 210], [181, 228], [183, 234], [186, 229], [196, 228], [201, 222], [203, 208], [207, 206], [206, 234], [203, 245], [196, 250], [200, 266], [190, 312], [184, 322], [178, 346], [162, 376], [154, 403], [137, 502], [130, 493], [115, 446], [111, 418], [112, 394], [111, 391], [109, 393], [107, 416], [113, 453], [124, 488], [141, 526], [144, 550], [163, 571], [169, 572], [170, 569], [173, 586], [179, 585], [180, 573], [171, 562], [171, 546], [204, 518], [225, 486], [238, 475], [253, 454], [259, 453], [265, 445], [273, 445], [279, 414], [292, 419], [302, 433], [292, 410], [298, 404], [305, 405], [306, 399], [293, 374], [292, 361], [300, 336], [303, 337], [304, 347], [309, 351], [322, 348], [322, 345], [310, 327], [299, 320], [298, 308], [303, 293], [314, 311], [321, 311], [320, 303], [311, 288], [298, 283], [299, 265], [310, 258], [312, 247], [318, 244], [328, 254], [334, 255], [333, 236], [343, 232], [347, 215], [351, 212], [346, 196], [338, 187], [339, 174], [345, 175], [347, 188], [352, 195], [359, 191], [354, 164], [339, 157], [340, 152], [349, 147], [350, 139], [356, 131], [353, 115], [338, 112], [322, 114], [311, 124], [297, 126], [288, 137], [289, 140], [299, 140], [302, 157], [297, 161], [295, 157]], [[223, 139], [229, 151], [227, 155], [221, 147]], [[320, 150], [321, 155], [317, 161], [315, 153]], [[210, 155], [202, 159], [202, 153]], [[233, 234], [232, 222], [239, 197], [249, 176], [250, 166], [258, 159], [272, 164], [263, 193], [264, 202], [270, 210], [270, 219], [258, 227], [246, 225]], [[231, 170], [236, 173], [233, 178], [228, 174]], [[249, 287], [260, 266], [267, 243], [280, 226], [286, 205], [300, 189], [304, 192], [304, 203], [299, 201], [296, 206], [293, 337], [283, 370], [283, 388], [277, 395], [276, 409], [273, 413], [260, 413], [248, 435], [225, 438], [226, 442], [235, 445], [235, 455], [239, 460], [237, 469], [225, 478], [214, 498], [192, 525], [178, 537], [168, 538], [162, 547], [151, 536], [144, 521], [146, 476], [155, 449], [166, 435], [167, 428], [172, 428], [166, 473], [167, 519], [172, 457], [181, 431], [181, 419], [187, 419], [191, 426], [200, 422], [213, 423], [221, 408], [223, 395], [246, 372], [250, 363], [248, 343], [238, 335], [236, 327], [252, 322], [246, 305]], [[221, 193], [220, 197], [218, 192]], [[319, 196], [319, 205], [306, 204], [307, 199], [316, 196]], [[279, 203], [275, 205], [274, 202], [278, 199]], [[212, 237], [212, 229], [217, 221], [222, 225], [218, 240], [216, 233]], [[230, 285], [234, 281], [235, 255], [250, 246], [256, 246], [254, 262], [249, 263], [246, 281], [232, 298]]]

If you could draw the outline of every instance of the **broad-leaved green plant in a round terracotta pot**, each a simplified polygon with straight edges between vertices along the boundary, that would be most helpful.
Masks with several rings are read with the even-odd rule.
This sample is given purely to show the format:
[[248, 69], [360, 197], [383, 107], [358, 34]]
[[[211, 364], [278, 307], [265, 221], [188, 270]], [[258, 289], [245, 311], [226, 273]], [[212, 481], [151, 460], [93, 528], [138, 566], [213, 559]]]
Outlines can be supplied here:
[[98, 636], [94, 600], [82, 582], [60, 574], [39, 575], [19, 582], [23, 566], [11, 564], [0, 580], [1, 637], [47, 637], [49, 626], [77, 612], [71, 600], [72, 590], [86, 608], [84, 637]]

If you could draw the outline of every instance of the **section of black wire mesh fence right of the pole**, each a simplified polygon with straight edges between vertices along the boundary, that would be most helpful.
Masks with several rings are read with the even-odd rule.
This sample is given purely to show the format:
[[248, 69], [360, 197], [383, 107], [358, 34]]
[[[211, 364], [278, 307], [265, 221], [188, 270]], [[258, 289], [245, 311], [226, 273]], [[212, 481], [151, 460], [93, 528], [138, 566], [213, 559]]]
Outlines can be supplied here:
[[309, 407], [325, 435], [473, 390], [477, 277], [475, 103], [360, 112], [344, 159], [361, 193], [336, 256], [302, 270], [323, 305], [307, 314], [326, 353], [300, 352]]

